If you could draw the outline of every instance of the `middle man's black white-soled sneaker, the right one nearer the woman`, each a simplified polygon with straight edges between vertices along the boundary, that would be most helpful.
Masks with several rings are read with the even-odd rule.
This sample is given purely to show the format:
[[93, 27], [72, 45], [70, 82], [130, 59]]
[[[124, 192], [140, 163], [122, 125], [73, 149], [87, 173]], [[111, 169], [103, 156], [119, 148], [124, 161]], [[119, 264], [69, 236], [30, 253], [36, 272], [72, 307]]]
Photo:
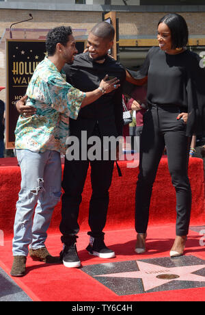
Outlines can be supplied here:
[[100, 258], [113, 258], [115, 252], [107, 248], [104, 242], [104, 237], [94, 238], [90, 236], [90, 244], [86, 247], [90, 255], [95, 255]]

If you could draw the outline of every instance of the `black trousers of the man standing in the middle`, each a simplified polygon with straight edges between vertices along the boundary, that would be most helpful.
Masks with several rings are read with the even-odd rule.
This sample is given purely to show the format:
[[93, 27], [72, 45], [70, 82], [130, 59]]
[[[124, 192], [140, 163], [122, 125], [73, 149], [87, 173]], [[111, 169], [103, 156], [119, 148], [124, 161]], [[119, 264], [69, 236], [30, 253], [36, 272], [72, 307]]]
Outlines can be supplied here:
[[[97, 134], [95, 132], [95, 134]], [[62, 242], [76, 236], [79, 232], [79, 206], [87, 177], [87, 169], [91, 166], [92, 197], [90, 199], [89, 220], [91, 236], [98, 237], [104, 233], [109, 205], [109, 188], [113, 175], [112, 160], [65, 160], [62, 188], [60, 231]]]

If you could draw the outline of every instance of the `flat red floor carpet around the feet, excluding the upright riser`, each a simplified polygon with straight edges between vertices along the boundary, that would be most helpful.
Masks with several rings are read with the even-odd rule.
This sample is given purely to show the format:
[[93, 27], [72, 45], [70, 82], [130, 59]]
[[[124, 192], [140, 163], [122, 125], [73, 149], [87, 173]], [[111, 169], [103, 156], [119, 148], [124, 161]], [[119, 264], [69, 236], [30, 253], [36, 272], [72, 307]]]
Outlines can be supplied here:
[[[103, 260], [90, 256], [85, 247], [88, 237], [80, 234], [77, 248], [83, 266], [91, 264], [113, 263], [120, 261], [142, 260], [150, 257], [168, 257], [169, 250], [173, 244], [174, 225], [160, 227], [151, 226], [148, 229], [148, 252], [137, 255], [133, 251], [135, 247], [135, 232], [133, 230], [108, 231], [106, 242], [116, 253], [112, 260]], [[197, 233], [190, 231], [185, 255], [194, 255], [205, 260], [204, 247], [200, 247], [200, 237]], [[59, 235], [49, 235], [46, 243], [53, 255], [58, 255], [61, 249]], [[12, 257], [8, 255], [12, 251], [10, 241], [0, 249], [0, 266], [10, 273]], [[3, 264], [2, 264], [3, 262]], [[49, 265], [41, 262], [27, 260], [27, 275], [23, 278], [13, 278], [18, 286], [33, 299], [33, 301], [204, 301], [205, 288], [190, 288], [185, 290], [172, 290], [167, 292], [152, 292], [145, 294], [132, 294], [119, 297], [106, 288], [96, 279], [83, 273], [82, 269], [69, 269], [63, 265]], [[205, 285], [204, 285], [205, 286]]]

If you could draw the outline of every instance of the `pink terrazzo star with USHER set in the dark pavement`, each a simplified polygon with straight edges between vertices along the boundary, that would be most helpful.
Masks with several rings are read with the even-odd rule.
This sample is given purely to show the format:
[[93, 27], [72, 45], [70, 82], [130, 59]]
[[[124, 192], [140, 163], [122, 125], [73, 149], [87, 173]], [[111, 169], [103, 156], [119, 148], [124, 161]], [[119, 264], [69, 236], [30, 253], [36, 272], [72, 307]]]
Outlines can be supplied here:
[[95, 277], [120, 277], [142, 279], [145, 291], [151, 290], [170, 281], [200, 281], [204, 282], [205, 277], [194, 275], [193, 272], [205, 268], [205, 265], [162, 267], [156, 264], [136, 261], [139, 271], [128, 271], [126, 273], [111, 273], [107, 275], [96, 275]]

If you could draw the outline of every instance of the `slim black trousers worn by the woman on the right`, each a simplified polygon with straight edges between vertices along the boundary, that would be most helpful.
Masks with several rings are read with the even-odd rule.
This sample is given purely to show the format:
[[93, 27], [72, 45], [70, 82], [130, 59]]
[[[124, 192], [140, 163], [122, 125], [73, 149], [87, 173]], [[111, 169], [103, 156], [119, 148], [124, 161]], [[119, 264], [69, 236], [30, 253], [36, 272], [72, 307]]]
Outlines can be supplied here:
[[[156, 171], [166, 146], [169, 173], [176, 190], [176, 235], [189, 231], [191, 187], [187, 175], [191, 138], [185, 135], [186, 124], [177, 120], [178, 107], [152, 106], [143, 117], [140, 140], [139, 177], [135, 194], [135, 229], [146, 233], [150, 199]], [[166, 211], [166, 209], [165, 209]]]

